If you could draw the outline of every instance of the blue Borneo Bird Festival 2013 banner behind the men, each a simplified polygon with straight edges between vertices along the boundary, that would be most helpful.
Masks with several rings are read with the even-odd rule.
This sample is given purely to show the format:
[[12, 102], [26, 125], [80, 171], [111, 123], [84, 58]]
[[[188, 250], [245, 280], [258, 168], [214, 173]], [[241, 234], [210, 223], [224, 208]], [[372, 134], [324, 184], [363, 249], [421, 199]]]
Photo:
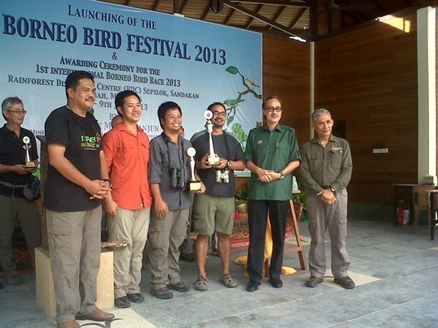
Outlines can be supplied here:
[[227, 107], [227, 131], [242, 146], [261, 121], [260, 33], [90, 0], [1, 1], [0, 13], [1, 100], [21, 98], [23, 126], [36, 135], [66, 103], [73, 70], [95, 77], [103, 132], [123, 90], [142, 98], [140, 126], [151, 139], [162, 131], [157, 108], [168, 100], [181, 106], [189, 139], [204, 128], [211, 102]]

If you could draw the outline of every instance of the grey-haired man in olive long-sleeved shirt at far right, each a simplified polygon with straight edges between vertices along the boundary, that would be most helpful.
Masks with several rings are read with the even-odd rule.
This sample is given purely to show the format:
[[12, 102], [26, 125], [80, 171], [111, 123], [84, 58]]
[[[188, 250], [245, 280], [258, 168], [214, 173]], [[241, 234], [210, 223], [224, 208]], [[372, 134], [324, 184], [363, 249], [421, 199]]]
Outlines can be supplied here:
[[335, 283], [355, 288], [348, 277], [350, 258], [346, 250], [347, 185], [350, 182], [352, 161], [348, 141], [331, 134], [333, 120], [326, 109], [311, 115], [316, 137], [302, 146], [301, 182], [306, 189], [311, 244], [307, 287], [316, 287], [326, 272], [324, 236], [329, 230], [331, 239], [331, 271]]

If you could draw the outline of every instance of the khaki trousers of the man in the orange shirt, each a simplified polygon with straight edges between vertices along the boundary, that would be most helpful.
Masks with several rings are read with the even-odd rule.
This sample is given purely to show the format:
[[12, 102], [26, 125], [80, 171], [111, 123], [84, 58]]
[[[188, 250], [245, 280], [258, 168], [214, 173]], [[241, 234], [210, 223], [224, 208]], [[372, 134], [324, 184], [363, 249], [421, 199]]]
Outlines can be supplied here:
[[140, 292], [142, 258], [149, 229], [151, 208], [125, 210], [117, 208], [116, 215], [107, 215], [108, 241], [127, 243], [114, 247], [114, 298]]

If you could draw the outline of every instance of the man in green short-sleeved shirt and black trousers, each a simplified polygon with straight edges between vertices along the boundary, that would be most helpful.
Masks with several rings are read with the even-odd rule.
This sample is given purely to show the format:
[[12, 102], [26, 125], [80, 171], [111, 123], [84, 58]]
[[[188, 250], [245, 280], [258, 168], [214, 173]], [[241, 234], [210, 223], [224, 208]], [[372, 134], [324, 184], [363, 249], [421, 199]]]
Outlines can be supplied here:
[[249, 275], [246, 285], [248, 292], [259, 289], [263, 275], [268, 211], [273, 243], [269, 282], [274, 288], [283, 287], [280, 275], [286, 219], [290, 215], [291, 173], [301, 161], [295, 130], [280, 124], [281, 100], [277, 96], [270, 96], [263, 102], [262, 108], [266, 125], [253, 128], [246, 141], [246, 167], [251, 171], [248, 191], [250, 242], [246, 267]]

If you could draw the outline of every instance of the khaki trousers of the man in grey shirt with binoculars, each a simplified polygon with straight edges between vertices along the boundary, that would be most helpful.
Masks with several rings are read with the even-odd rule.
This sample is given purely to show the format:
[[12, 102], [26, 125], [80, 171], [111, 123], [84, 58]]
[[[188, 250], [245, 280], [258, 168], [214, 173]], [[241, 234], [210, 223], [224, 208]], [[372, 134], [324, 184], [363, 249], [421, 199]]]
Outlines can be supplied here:
[[183, 243], [188, 224], [189, 209], [170, 210], [162, 219], [152, 211], [149, 228], [149, 265], [151, 288], [158, 290], [177, 284], [179, 276], [179, 246]]

